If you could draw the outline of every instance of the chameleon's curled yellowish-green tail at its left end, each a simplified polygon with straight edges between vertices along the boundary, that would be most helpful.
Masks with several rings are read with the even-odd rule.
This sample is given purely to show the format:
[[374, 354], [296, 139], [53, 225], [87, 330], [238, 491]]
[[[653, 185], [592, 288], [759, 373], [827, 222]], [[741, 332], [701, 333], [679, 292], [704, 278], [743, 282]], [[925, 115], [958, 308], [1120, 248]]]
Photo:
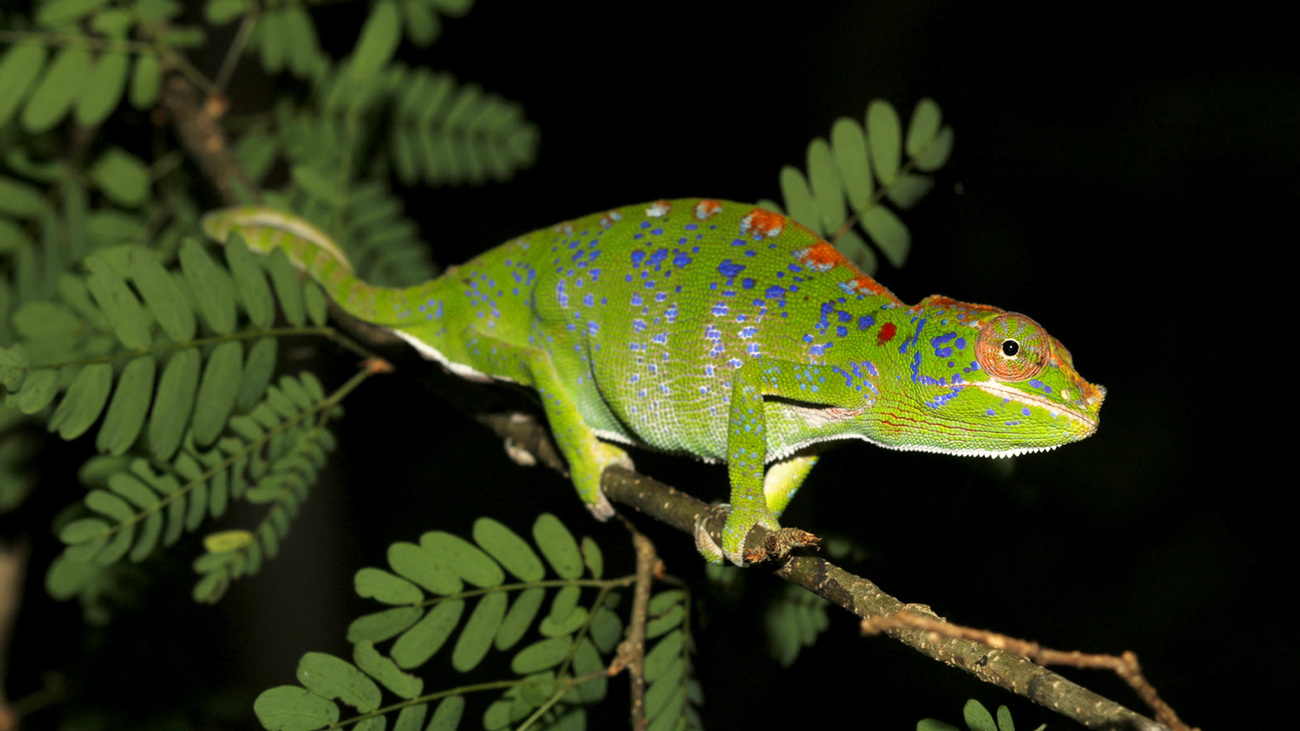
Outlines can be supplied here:
[[[272, 208], [244, 206], [213, 211], [202, 220], [203, 233], [225, 243], [239, 232], [248, 248], [270, 254], [280, 248], [290, 263], [302, 269], [325, 294], [350, 315], [376, 324], [395, 324], [394, 299], [399, 290], [378, 287], [356, 277], [343, 250], [325, 232], [296, 216]], [[381, 315], [385, 313], [385, 315]]]

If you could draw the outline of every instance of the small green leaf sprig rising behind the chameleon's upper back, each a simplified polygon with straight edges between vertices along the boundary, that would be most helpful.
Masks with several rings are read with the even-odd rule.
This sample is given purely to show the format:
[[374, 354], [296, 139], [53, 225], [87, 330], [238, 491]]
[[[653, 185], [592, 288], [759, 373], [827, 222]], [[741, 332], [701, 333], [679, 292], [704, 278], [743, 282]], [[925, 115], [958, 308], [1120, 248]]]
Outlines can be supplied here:
[[[933, 173], [953, 148], [953, 129], [931, 99], [922, 99], [904, 137], [898, 112], [888, 101], [867, 107], [866, 125], [841, 117], [831, 126], [831, 140], [809, 144], [807, 173], [781, 168], [785, 211], [796, 221], [829, 238], [863, 272], [874, 274], [875, 251], [854, 229], [876, 245], [893, 267], [902, 267], [911, 250], [907, 225], [885, 206], [915, 206], [933, 187]], [[760, 202], [774, 211], [772, 202]]]

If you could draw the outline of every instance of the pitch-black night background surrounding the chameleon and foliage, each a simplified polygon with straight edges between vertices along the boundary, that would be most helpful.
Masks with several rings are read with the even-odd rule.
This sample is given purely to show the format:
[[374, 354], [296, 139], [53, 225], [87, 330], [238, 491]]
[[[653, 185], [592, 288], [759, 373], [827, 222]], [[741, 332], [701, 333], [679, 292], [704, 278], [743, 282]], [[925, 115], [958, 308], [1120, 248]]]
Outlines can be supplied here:
[[[853, 538], [866, 553], [857, 572], [954, 622], [1136, 652], [1188, 723], [1271, 727], [1300, 679], [1288, 589], [1296, 479], [1283, 459], [1295, 449], [1283, 298], [1295, 291], [1300, 193], [1290, 31], [1245, 7], [1041, 8], [484, 1], [447, 21], [430, 51], [404, 53], [520, 101], [541, 129], [537, 165], [506, 185], [415, 190], [410, 211], [434, 258], [455, 263], [632, 202], [775, 198], [781, 165], [805, 166], [807, 143], [836, 117], [862, 118], [885, 99], [906, 120], [933, 98], [954, 153], [904, 216], [906, 267], [878, 278], [905, 302], [941, 293], [1043, 323], [1109, 389], [1101, 428], [1014, 462], [850, 444], [823, 459], [786, 522]], [[341, 38], [360, 17], [321, 13]], [[333, 362], [337, 385], [352, 363]], [[406, 366], [348, 399], [330, 479], [261, 575], [218, 607], [194, 609], [187, 568], [159, 571], [144, 606], [113, 630], [133, 650], [94, 632], [65, 643], [73, 662], [105, 670], [96, 692], [139, 697], [144, 683], [169, 698], [151, 702], [186, 708], [195, 685], [222, 688], [230, 705], [208, 723], [246, 713], [256, 692], [292, 682], [303, 652], [347, 653], [347, 622], [372, 610], [352, 594], [356, 568], [422, 531], [467, 535], [478, 515], [524, 532], [550, 510], [627, 567], [619, 528], [593, 523], [562, 477], [508, 462]], [[725, 494], [719, 468], [634, 457], [702, 498]], [[702, 585], [689, 538], [642, 523], [670, 571]], [[746, 579], [740, 597], [701, 602], [710, 728], [958, 723], [972, 696], [1010, 704], [1018, 727], [1071, 727], [890, 640], [859, 639], [836, 611], [781, 670], [759, 632], [775, 581]], [[131, 663], [140, 675], [121, 671]], [[1065, 674], [1145, 711], [1105, 674]], [[621, 679], [611, 688], [625, 692]], [[592, 727], [623, 727], [624, 709]]]

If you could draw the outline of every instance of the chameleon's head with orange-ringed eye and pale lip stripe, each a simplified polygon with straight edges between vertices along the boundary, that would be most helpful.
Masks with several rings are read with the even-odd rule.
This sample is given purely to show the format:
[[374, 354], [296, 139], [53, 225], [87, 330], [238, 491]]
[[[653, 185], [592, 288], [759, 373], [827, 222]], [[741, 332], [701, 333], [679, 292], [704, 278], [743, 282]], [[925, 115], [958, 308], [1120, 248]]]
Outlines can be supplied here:
[[932, 300], [918, 319], [905, 395], [881, 399], [881, 411], [897, 416], [881, 424], [881, 442], [1011, 457], [1097, 431], [1106, 390], [1079, 376], [1070, 351], [1041, 325], [1017, 312]]

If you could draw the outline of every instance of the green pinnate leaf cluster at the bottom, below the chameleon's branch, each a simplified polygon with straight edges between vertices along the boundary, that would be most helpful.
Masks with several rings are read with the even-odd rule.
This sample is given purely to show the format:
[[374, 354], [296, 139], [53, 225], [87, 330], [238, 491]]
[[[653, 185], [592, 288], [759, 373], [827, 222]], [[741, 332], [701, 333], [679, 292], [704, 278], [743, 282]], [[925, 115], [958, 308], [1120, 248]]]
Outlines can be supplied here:
[[[521, 722], [582, 728], [584, 705], [606, 695], [604, 658], [623, 637], [616, 589], [630, 578], [604, 579], [597, 544], [578, 542], [550, 514], [533, 523], [532, 544], [490, 518], [476, 520], [472, 535], [471, 542], [430, 531], [419, 542], [390, 545], [386, 568], [358, 571], [356, 593], [387, 609], [351, 623], [351, 662], [307, 653], [298, 667], [300, 685], [263, 692], [255, 704], [263, 726], [309, 731], [355, 722], [374, 731], [395, 714], [394, 728], [420, 728], [428, 706], [441, 701], [433, 727], [455, 728], [464, 696], [498, 691], [484, 710], [485, 728]], [[680, 715], [671, 710], [673, 701], [681, 705], [685, 698], [680, 594], [651, 601], [653, 636], [662, 639], [646, 657], [647, 679], [654, 671], [655, 709], [672, 718]], [[503, 653], [511, 675], [428, 692], [424, 679], [408, 671], [426, 666], [445, 649], [451, 667], [463, 674], [480, 669], [491, 653]], [[382, 705], [384, 689], [396, 701]], [[341, 721], [339, 704], [352, 706], [356, 715]]]

